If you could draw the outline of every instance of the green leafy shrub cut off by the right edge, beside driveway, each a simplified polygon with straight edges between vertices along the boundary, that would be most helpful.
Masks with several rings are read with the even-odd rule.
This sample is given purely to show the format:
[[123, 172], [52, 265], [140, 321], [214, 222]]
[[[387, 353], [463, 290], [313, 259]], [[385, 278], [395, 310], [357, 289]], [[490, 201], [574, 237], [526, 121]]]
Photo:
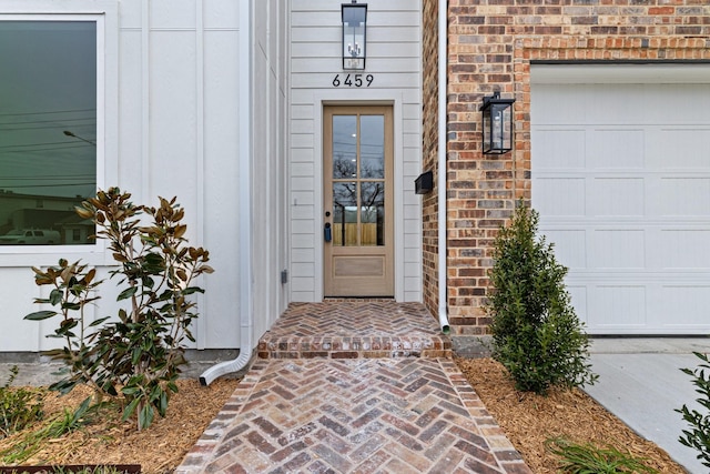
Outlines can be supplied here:
[[683, 415], [683, 420], [690, 425], [689, 430], [682, 431], [683, 434], [679, 441], [681, 444], [697, 450], [699, 452], [698, 460], [702, 462], [702, 465], [710, 467], [710, 374], [706, 373], [706, 369], [710, 369], [710, 364], [708, 364], [707, 354], [699, 352], [693, 352], [693, 354], [702, 361], [698, 369], [694, 371], [681, 369], [681, 371], [693, 377], [692, 383], [696, 385], [696, 392], [700, 394], [696, 402], [704, 410], [703, 413], [700, 413], [698, 410], [688, 409], [687, 405], [676, 410]]

